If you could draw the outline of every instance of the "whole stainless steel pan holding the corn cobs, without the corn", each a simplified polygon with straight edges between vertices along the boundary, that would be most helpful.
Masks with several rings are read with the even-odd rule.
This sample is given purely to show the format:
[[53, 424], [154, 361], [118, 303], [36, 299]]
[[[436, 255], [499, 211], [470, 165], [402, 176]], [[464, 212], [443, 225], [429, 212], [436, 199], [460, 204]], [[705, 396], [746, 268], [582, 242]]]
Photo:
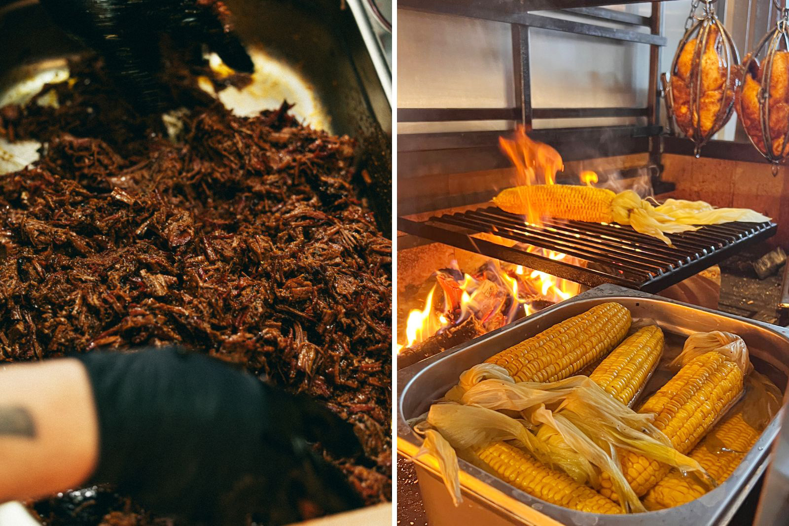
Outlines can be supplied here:
[[[489, 356], [549, 326], [578, 315], [597, 304], [616, 301], [630, 309], [634, 318], [651, 318], [667, 334], [687, 336], [692, 332], [725, 330], [746, 341], [757, 371], [768, 375], [782, 390], [789, 373], [789, 330], [739, 316], [667, 300], [616, 285], [600, 285], [570, 300], [556, 304], [458, 345], [398, 372], [398, 452], [413, 458], [421, 438], [413, 434], [406, 420], [427, 411], [436, 398], [458, 381], [458, 375]], [[656, 512], [630, 515], [603, 515], [578, 512], [548, 504], [503, 480], [489, 475], [466, 461], [460, 461], [464, 502], [452, 505], [437, 470], [436, 459], [424, 455], [415, 459], [424, 508], [431, 526], [456, 524], [577, 524], [579, 526], [653, 526], [657, 524], [727, 524], [768, 465], [769, 446], [780, 429], [780, 415], [762, 433], [742, 463], [726, 482], [686, 505]]]

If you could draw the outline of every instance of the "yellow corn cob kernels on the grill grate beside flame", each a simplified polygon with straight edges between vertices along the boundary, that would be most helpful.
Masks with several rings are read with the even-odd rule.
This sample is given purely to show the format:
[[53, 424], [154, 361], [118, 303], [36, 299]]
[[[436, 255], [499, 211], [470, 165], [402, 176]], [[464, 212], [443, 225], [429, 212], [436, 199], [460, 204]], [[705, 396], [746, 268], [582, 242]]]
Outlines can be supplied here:
[[591, 186], [530, 185], [502, 190], [493, 202], [510, 214], [539, 211], [543, 217], [610, 223], [615, 196], [611, 190]]

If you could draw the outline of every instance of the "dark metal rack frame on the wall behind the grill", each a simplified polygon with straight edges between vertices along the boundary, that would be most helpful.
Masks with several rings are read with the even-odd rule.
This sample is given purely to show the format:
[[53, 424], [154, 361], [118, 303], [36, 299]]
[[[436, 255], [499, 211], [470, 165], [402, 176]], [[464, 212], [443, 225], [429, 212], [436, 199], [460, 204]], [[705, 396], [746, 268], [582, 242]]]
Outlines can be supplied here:
[[[398, 108], [398, 122], [517, 121], [531, 127], [533, 119], [643, 117], [644, 124], [537, 129], [530, 136], [555, 147], [566, 160], [588, 159], [597, 143], [606, 141], [607, 155], [649, 152], [649, 165], [660, 173], [663, 147], [659, 125], [660, 49], [666, 45], [663, 32], [663, 3], [653, 2], [650, 17], [597, 7], [593, 0], [401, 0], [398, 7], [457, 17], [471, 17], [510, 24], [514, 62], [515, 106], [508, 108]], [[608, 2], [610, 4], [610, 2]], [[618, 4], [634, 2], [617, 2]], [[568, 21], [530, 13], [558, 10], [589, 19]], [[608, 28], [594, 21], [609, 21], [633, 28]], [[529, 29], [541, 28], [596, 38], [648, 45], [649, 93], [645, 107], [534, 108], [531, 100]], [[649, 28], [649, 32], [639, 31]], [[499, 152], [500, 132], [440, 132], [398, 134], [398, 172], [408, 178], [431, 173], [461, 173], [507, 168], [510, 163]], [[611, 144], [610, 139], [617, 139]], [[658, 182], [658, 181], [653, 181]], [[470, 198], [471, 196], [469, 196]], [[476, 196], [474, 196], [476, 197]], [[470, 201], [469, 201], [470, 202]], [[459, 203], [463, 204], [463, 203]], [[416, 211], [416, 210], [414, 210]]]

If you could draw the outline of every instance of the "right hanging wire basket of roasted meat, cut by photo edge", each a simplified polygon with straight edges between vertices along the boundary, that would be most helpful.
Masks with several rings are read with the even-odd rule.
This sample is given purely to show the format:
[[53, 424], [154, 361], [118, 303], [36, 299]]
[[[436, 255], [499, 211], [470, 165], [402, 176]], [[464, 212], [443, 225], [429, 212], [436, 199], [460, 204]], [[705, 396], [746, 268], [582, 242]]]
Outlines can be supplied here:
[[775, 174], [789, 156], [789, 9], [772, 3], [778, 23], [746, 55], [735, 106], [751, 144], [772, 162]]

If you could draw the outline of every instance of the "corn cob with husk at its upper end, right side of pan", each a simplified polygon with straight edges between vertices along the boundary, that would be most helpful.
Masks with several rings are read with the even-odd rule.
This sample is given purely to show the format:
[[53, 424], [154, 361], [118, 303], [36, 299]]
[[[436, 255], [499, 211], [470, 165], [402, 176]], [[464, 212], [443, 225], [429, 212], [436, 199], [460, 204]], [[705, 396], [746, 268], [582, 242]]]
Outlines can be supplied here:
[[[742, 371], [720, 353], [697, 356], [645, 402], [638, 412], [653, 412], [655, 427], [663, 431], [679, 453], [686, 454], [705, 435], [712, 422], [742, 392]], [[622, 471], [641, 497], [671, 470], [629, 450], [620, 452]], [[600, 493], [615, 498], [611, 481], [603, 474]]]

